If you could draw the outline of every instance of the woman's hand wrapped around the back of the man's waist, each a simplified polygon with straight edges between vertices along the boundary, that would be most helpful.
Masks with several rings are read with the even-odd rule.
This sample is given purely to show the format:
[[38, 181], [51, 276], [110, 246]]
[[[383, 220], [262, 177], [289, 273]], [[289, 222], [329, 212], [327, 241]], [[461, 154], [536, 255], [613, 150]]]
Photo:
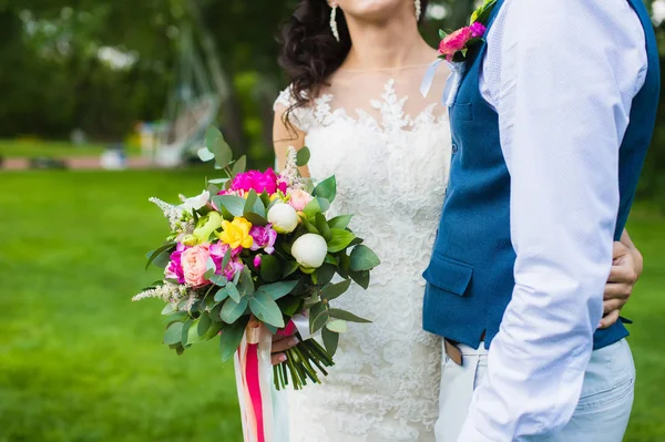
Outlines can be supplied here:
[[642, 255], [636, 248], [614, 243], [612, 273], [605, 286], [601, 329], [607, 328], [618, 320], [621, 309], [628, 302], [633, 287], [642, 274]]

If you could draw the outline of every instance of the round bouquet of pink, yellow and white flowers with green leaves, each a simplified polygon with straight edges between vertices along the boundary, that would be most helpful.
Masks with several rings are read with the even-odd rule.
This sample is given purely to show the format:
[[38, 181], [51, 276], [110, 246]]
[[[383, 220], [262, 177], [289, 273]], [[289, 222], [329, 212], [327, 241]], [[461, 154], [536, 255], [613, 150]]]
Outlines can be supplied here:
[[[289, 148], [280, 174], [245, 172], [246, 158], [232, 161], [222, 133], [209, 129], [198, 155], [225, 176], [207, 181], [198, 196], [181, 196], [178, 205], [151, 198], [171, 225], [164, 244], [147, 255], [149, 266], [164, 268], [164, 279], [133, 299], [166, 302], [164, 343], [178, 354], [218, 339], [223, 360], [235, 354], [249, 397], [252, 377], [264, 392], [270, 376], [277, 389], [319, 383], [347, 321], [367, 322], [334, 308], [334, 300], [351, 281], [367, 288], [378, 257], [347, 227], [351, 215], [326, 216], [335, 176], [316, 185], [304, 178], [298, 167], [309, 160], [306, 147]], [[325, 347], [311, 339], [318, 331]], [[294, 332], [300, 342], [270, 368], [273, 336]]]

